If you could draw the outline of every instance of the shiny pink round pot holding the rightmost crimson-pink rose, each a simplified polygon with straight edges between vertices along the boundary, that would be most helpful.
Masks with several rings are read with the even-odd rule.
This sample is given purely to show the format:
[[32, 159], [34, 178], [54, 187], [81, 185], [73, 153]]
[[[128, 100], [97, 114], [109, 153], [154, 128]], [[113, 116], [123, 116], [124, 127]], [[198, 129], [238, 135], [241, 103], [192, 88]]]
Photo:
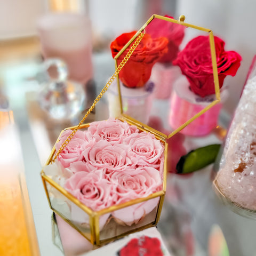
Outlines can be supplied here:
[[[226, 98], [227, 90], [221, 93]], [[215, 94], [207, 95], [202, 98], [189, 90], [189, 82], [185, 76], [181, 76], [174, 84], [170, 101], [169, 124], [173, 129], [177, 129], [203, 110], [212, 101], [215, 100]], [[222, 103], [217, 103], [204, 114], [197, 117], [188, 126], [180, 132], [189, 136], [203, 136], [211, 133], [218, 125], [218, 118]]]

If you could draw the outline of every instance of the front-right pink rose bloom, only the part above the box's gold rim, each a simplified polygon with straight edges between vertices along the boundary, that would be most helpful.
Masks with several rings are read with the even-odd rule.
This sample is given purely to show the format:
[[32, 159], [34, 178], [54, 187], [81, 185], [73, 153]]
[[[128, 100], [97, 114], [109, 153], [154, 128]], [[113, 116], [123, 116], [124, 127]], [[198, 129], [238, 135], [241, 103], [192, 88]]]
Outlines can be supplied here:
[[147, 197], [161, 190], [162, 187], [159, 171], [148, 166], [141, 166], [135, 170], [127, 169], [122, 172], [114, 172], [110, 176], [110, 182], [117, 185], [115, 191], [118, 196], [117, 204], [135, 198]]

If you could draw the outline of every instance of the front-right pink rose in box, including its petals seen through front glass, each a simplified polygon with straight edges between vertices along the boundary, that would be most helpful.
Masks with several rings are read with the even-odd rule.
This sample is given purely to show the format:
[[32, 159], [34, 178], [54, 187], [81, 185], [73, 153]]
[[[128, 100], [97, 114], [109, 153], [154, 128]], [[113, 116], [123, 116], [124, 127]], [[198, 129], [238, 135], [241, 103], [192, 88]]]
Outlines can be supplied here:
[[[135, 198], [147, 197], [162, 189], [160, 173], [153, 167], [139, 167], [136, 171], [129, 169], [115, 172], [111, 175], [111, 183], [116, 183], [116, 204], [124, 203]], [[143, 203], [131, 205], [111, 213], [118, 223], [131, 226], [139, 222], [158, 204], [159, 198], [149, 199]]]

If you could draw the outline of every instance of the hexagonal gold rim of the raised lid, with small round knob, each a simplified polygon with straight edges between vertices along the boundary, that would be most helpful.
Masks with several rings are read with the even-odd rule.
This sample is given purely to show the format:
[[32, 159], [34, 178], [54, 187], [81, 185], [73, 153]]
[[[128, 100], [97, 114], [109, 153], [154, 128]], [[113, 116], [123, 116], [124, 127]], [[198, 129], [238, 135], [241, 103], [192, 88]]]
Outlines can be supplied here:
[[[194, 28], [194, 29], [205, 31], [205, 32], [209, 33], [211, 57], [212, 57], [212, 69], [213, 69], [213, 79], [214, 79], [216, 100], [212, 101], [208, 106], [206, 106], [203, 110], [199, 111], [195, 116], [191, 117], [187, 122], [182, 124], [180, 127], [178, 127], [176, 130], [174, 130], [172, 133], [170, 133], [170, 134], [161, 134], [161, 133], [158, 132], [159, 135], [161, 135], [161, 136], [164, 135], [164, 138], [167, 139], [167, 138], [171, 138], [173, 135], [178, 133], [180, 130], [182, 130], [184, 127], [186, 127], [188, 124], [193, 122], [197, 117], [204, 114], [205, 111], [207, 111], [208, 109], [213, 107], [215, 104], [219, 103], [220, 102], [220, 86], [219, 86], [219, 78], [218, 78], [218, 68], [217, 68], [217, 60], [216, 60], [216, 53], [215, 53], [214, 36], [213, 36], [212, 30], [207, 29], [207, 28], [203, 28], [203, 27], [198, 27], [198, 26], [195, 26], [195, 25], [191, 25], [189, 23], [185, 23], [184, 22], [184, 20], [185, 20], [184, 15], [181, 15], [179, 20], [174, 20], [174, 19], [171, 19], [171, 18], [163, 17], [161, 15], [153, 14], [148, 19], [148, 21], [145, 23], [145, 25], [143, 25], [140, 28], [140, 30], [138, 30], [138, 32], [130, 39], [130, 41], [127, 42], [127, 44], [125, 44], [123, 49], [116, 54], [116, 56], [114, 58], [116, 68], [117, 68], [117, 59], [118, 59], [118, 57], [120, 57], [120, 55], [127, 49], [127, 47], [129, 47], [133, 43], [133, 41], [140, 35], [140, 33], [143, 30], [145, 30], [145, 28], [149, 25], [149, 23], [151, 21], [153, 21], [154, 19], [161, 19], [161, 20], [169, 21], [169, 22], [172, 22], [172, 23], [176, 23], [176, 24], [179, 24], [179, 25], [182, 25], [182, 26]], [[117, 75], [117, 88], [118, 88], [118, 94], [119, 94], [121, 114], [123, 114], [123, 104], [122, 104], [122, 95], [121, 95], [121, 89], [120, 89], [119, 75]]]

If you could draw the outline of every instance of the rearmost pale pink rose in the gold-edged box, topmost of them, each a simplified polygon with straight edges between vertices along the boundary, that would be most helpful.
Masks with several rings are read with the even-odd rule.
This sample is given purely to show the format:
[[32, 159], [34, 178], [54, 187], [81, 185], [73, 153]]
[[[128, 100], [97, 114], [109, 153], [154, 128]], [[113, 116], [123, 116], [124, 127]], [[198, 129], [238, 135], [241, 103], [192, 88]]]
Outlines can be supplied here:
[[106, 121], [91, 123], [88, 131], [93, 136], [99, 135], [101, 139], [111, 142], [121, 142], [123, 136], [128, 136], [139, 130], [134, 125], [129, 125], [115, 118], [109, 118]]

